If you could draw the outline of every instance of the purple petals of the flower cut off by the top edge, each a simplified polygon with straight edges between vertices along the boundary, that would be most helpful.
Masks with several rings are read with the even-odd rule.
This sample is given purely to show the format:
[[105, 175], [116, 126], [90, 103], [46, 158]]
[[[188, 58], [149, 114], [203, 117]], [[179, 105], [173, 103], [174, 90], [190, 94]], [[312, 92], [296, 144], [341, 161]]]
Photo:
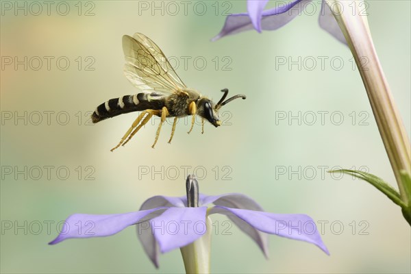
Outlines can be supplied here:
[[[310, 6], [310, 12], [307, 12], [308, 14], [311, 14], [312, 8], [315, 8], [312, 0], [292, 0], [288, 1], [288, 3], [277, 5], [276, 8], [264, 10], [268, 1], [269, 0], [248, 0], [248, 13], [231, 14], [227, 16], [223, 29], [217, 36], [212, 38], [212, 40], [215, 41], [224, 36], [238, 34], [239, 32], [245, 32], [250, 29], [256, 29], [258, 32], [261, 32], [262, 29], [279, 29], [297, 15], [301, 14], [301, 12], [305, 11], [308, 6]], [[331, 5], [334, 4], [335, 3], [332, 3]], [[341, 32], [325, 0], [321, 2], [319, 23], [329, 34], [340, 40], [340, 42], [347, 44], [344, 34]]]

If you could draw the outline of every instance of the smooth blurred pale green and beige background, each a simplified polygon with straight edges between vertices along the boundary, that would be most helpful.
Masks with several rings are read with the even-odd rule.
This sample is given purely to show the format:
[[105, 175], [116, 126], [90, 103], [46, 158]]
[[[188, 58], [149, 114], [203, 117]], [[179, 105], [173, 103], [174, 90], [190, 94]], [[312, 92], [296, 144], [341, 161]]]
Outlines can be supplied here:
[[[351, 53], [319, 27], [319, 3], [276, 32], [217, 42], [210, 38], [224, 12], [244, 12], [245, 1], [50, 3], [48, 11], [41, 1], [1, 1], [1, 273], [183, 272], [178, 250], [160, 255], [156, 270], [132, 227], [47, 242], [70, 214], [131, 212], [153, 195], [185, 195], [187, 172], [205, 194], [241, 192], [266, 211], [312, 216], [331, 253], [271, 236], [266, 260], [236, 227], [223, 235], [225, 217], [213, 216], [213, 273], [410, 273], [410, 227], [399, 207], [365, 182], [324, 172], [362, 169], [396, 187]], [[410, 1], [368, 1], [366, 11], [410, 134]], [[203, 135], [199, 125], [186, 134], [182, 120], [169, 145], [168, 123], [151, 149], [155, 119], [110, 152], [136, 114], [97, 125], [88, 117], [136, 92], [121, 47], [134, 32], [156, 42], [188, 86], [214, 101], [222, 88], [247, 100], [225, 106], [224, 125], [208, 123]], [[298, 115], [300, 125], [290, 119]]]

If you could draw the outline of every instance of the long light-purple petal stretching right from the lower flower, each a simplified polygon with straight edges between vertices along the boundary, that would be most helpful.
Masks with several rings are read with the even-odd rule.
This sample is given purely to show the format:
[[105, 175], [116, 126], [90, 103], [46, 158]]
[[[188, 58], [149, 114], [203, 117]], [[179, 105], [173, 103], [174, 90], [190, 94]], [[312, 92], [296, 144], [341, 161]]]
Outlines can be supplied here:
[[[240, 219], [261, 232], [310, 242], [329, 255], [314, 221], [305, 214], [274, 214], [215, 206], [209, 214], [221, 213]], [[241, 227], [240, 227], [241, 228]]]

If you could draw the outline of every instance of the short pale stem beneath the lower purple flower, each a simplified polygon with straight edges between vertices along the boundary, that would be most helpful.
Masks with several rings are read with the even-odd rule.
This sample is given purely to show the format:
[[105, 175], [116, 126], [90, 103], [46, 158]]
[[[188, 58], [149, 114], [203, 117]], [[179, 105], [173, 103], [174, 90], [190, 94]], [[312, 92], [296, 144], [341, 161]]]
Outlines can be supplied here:
[[207, 217], [207, 232], [190, 245], [180, 248], [186, 273], [210, 273], [210, 245], [212, 222]]

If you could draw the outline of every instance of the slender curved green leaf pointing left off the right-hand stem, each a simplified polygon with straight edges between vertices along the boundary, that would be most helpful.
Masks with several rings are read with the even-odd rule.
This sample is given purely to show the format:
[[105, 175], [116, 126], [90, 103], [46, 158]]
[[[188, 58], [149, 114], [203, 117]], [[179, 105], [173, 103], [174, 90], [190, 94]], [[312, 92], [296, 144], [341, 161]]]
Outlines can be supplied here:
[[392, 186], [387, 184], [383, 179], [372, 175], [370, 173], [366, 173], [363, 171], [351, 171], [350, 169], [338, 169], [335, 171], [328, 171], [329, 173], [346, 173], [351, 176], [357, 177], [359, 179], [363, 179], [366, 182], [369, 182], [373, 186], [375, 186], [379, 191], [383, 192], [385, 195], [387, 195], [388, 198], [390, 198], [391, 201], [396, 203], [398, 206], [401, 206], [401, 208], [407, 208], [408, 205], [403, 203], [401, 201], [401, 197], [399, 196], [399, 192], [395, 190]]

